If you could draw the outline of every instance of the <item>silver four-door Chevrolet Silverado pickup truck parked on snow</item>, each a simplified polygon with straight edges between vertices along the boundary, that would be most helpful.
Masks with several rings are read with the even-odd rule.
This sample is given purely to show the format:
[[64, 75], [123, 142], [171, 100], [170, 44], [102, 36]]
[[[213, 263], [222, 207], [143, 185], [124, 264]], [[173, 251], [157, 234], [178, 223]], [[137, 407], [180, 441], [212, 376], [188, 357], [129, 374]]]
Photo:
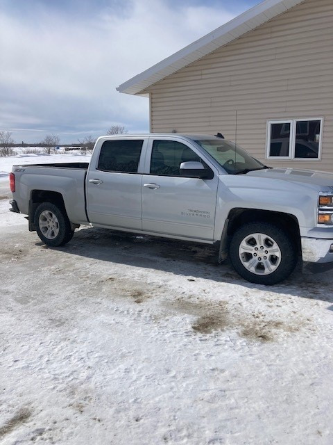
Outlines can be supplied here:
[[333, 261], [333, 174], [268, 168], [221, 137], [105, 136], [90, 163], [14, 165], [10, 186], [11, 210], [50, 246], [80, 224], [214, 244], [267, 285], [300, 255]]

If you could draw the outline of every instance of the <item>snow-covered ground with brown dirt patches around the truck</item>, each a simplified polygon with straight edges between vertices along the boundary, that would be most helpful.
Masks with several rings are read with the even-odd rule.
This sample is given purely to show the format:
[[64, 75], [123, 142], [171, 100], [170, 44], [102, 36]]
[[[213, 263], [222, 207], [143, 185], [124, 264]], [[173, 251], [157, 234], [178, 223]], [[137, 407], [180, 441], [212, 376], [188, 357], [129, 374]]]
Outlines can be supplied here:
[[90, 227], [46, 248], [1, 190], [1, 444], [332, 445], [332, 273], [266, 288]]

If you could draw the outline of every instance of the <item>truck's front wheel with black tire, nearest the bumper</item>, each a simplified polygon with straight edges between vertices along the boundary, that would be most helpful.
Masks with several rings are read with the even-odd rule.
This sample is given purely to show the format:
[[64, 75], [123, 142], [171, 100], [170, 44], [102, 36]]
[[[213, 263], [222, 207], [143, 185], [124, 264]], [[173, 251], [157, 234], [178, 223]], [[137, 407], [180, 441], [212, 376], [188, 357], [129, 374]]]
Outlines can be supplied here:
[[[251, 238], [252, 234], [254, 235], [253, 238]], [[268, 238], [265, 238], [262, 244], [256, 243], [255, 235], [257, 234], [264, 234]], [[259, 239], [262, 239], [262, 237]], [[270, 240], [275, 241], [275, 245], [272, 247], [276, 247], [277, 245], [278, 249], [280, 249], [280, 252], [276, 253], [278, 257], [275, 257], [275, 254], [269, 253], [269, 247], [267, 250], [265, 250], [266, 247], [261, 247], [265, 245], [265, 242], [271, 242]], [[253, 243], [252, 245], [246, 244], [251, 241]], [[250, 245], [250, 249], [252, 248], [252, 250], [256, 245], [259, 246], [259, 249], [256, 248], [255, 253], [253, 253], [254, 250], [248, 253], [244, 250], [244, 243], [246, 246]], [[268, 252], [268, 257], [263, 256], [265, 252]], [[271, 252], [273, 252], [273, 250], [271, 250]], [[248, 282], [265, 284], [266, 286], [278, 284], [289, 277], [296, 267], [298, 259], [296, 243], [293, 242], [288, 232], [282, 229], [282, 227], [275, 226], [271, 223], [259, 222], [248, 223], [239, 227], [239, 229], [234, 232], [230, 243], [229, 254], [232, 266], [234, 266], [234, 269], [241, 277]], [[254, 258], [253, 255], [257, 258]], [[259, 257], [259, 255], [261, 255], [262, 258]], [[263, 259], [263, 261], [259, 262], [259, 259]], [[266, 261], [267, 259], [268, 261]], [[255, 264], [255, 266], [252, 267], [252, 269], [255, 269], [254, 272], [249, 270], [251, 264]], [[269, 268], [266, 268], [266, 264], [268, 264]], [[270, 271], [271, 269], [272, 272]]]

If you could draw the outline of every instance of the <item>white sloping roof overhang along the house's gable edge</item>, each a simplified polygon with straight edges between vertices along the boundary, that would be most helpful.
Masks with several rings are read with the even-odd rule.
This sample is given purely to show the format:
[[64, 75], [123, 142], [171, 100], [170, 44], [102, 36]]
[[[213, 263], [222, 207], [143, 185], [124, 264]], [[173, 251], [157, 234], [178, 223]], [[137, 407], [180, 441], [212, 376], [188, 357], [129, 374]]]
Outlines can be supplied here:
[[156, 63], [148, 70], [121, 83], [116, 89], [129, 95], [137, 95], [153, 85], [153, 83], [212, 53], [215, 49], [225, 46], [232, 40], [236, 40], [241, 35], [252, 31], [277, 15], [285, 13], [303, 1], [305, 0], [265, 0], [211, 33], [204, 35], [196, 42], [180, 49], [172, 56], [164, 58], [164, 60]]

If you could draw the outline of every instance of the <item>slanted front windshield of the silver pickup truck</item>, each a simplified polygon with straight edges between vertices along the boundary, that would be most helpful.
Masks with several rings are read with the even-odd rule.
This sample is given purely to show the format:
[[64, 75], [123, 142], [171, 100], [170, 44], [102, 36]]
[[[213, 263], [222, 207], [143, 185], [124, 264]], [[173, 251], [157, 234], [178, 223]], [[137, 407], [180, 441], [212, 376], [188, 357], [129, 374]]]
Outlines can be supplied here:
[[203, 147], [230, 175], [266, 168], [264, 164], [230, 140], [212, 138], [199, 139], [195, 142]]

